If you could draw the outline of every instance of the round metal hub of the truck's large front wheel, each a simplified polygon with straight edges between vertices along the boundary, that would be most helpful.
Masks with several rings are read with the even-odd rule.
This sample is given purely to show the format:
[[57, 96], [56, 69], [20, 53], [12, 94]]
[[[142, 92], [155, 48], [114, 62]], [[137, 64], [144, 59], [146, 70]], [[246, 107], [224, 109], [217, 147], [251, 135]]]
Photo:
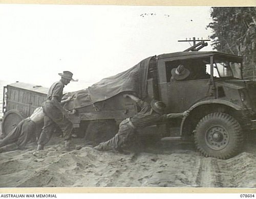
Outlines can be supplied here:
[[222, 150], [228, 144], [228, 131], [219, 125], [211, 126], [205, 134], [205, 141], [212, 150]]

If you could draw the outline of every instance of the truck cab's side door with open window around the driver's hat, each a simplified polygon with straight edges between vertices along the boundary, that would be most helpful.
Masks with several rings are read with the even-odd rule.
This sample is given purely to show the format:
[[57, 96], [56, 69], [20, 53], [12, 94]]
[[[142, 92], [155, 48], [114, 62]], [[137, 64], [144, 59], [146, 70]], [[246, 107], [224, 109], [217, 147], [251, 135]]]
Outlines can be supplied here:
[[[209, 97], [210, 75], [206, 72], [204, 60], [176, 60], [159, 62], [159, 83], [161, 100], [168, 112], [183, 112], [193, 104]], [[173, 80], [172, 73], [179, 66], [189, 70], [189, 75], [181, 80]]]

